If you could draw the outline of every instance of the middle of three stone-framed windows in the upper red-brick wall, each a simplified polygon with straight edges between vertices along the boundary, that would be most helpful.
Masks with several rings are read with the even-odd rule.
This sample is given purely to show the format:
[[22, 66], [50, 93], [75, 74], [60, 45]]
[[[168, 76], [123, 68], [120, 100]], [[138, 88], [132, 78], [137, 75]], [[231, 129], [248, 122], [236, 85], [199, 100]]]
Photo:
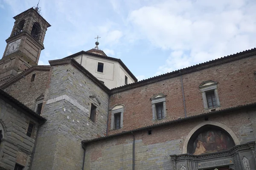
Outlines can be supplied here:
[[166, 118], [166, 95], [157, 94], [151, 97], [153, 120]]

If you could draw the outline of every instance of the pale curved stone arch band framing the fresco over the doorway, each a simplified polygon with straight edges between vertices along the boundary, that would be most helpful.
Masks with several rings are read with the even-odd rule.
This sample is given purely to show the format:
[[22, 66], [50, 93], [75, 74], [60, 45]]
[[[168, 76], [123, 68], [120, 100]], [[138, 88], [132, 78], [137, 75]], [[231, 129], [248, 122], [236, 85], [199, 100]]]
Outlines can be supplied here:
[[232, 137], [232, 139], [234, 140], [236, 145], [239, 145], [240, 142], [238, 140], [238, 138], [236, 137], [236, 134], [233, 132], [233, 130], [231, 130], [229, 127], [227, 127], [226, 125], [223, 125], [219, 122], [215, 122], [215, 121], [207, 121], [207, 122], [202, 122], [200, 124], [198, 124], [197, 126], [195, 126], [190, 132], [189, 134], [186, 136], [186, 139], [183, 143], [183, 154], [187, 153], [187, 146], [189, 143], [189, 139], [191, 138], [191, 136], [195, 133], [196, 130], [198, 130], [200, 127], [204, 126], [204, 125], [214, 125], [214, 126], [218, 126], [221, 127], [222, 129], [226, 130], [227, 133], [230, 134], [230, 136]]

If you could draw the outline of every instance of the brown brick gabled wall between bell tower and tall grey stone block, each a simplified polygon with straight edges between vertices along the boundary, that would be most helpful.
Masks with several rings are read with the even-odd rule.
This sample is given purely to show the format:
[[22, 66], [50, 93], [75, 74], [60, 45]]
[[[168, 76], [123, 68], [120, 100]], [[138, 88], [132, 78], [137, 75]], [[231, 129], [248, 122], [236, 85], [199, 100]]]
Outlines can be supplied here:
[[[32, 74], [35, 74], [35, 80], [31, 82]], [[44, 95], [49, 77], [49, 71], [32, 71], [17, 82], [4, 89], [8, 94], [22, 102], [32, 111], [35, 110], [36, 99]]]

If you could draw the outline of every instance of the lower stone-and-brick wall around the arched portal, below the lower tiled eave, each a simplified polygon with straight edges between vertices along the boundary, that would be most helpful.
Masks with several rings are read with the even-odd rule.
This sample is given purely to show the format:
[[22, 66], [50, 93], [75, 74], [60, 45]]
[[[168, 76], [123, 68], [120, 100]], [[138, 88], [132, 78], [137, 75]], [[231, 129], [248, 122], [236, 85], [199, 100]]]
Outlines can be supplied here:
[[[250, 114], [256, 110], [250, 111]], [[254, 116], [255, 117], [255, 116]], [[135, 132], [135, 170], [172, 170], [170, 155], [183, 153], [183, 145], [189, 132], [207, 122], [204, 118], [191, 119], [148, 130]], [[209, 116], [209, 122], [221, 123], [229, 127], [240, 144], [255, 140], [253, 124], [247, 111], [237, 111]], [[211, 124], [212, 125], [212, 124]], [[189, 136], [190, 137], [190, 136]], [[112, 137], [87, 144], [85, 156], [86, 170], [131, 170], [131, 134]]]

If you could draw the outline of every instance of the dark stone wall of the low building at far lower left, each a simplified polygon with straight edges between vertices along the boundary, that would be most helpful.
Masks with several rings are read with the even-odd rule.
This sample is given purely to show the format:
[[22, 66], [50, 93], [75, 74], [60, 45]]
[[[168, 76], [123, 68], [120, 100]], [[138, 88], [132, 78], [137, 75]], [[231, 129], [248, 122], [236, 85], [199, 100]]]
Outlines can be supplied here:
[[[26, 136], [30, 121], [34, 123], [31, 137]], [[0, 99], [0, 124], [4, 136], [0, 145], [0, 169], [13, 170], [18, 163], [28, 170], [38, 130], [37, 121]]]

